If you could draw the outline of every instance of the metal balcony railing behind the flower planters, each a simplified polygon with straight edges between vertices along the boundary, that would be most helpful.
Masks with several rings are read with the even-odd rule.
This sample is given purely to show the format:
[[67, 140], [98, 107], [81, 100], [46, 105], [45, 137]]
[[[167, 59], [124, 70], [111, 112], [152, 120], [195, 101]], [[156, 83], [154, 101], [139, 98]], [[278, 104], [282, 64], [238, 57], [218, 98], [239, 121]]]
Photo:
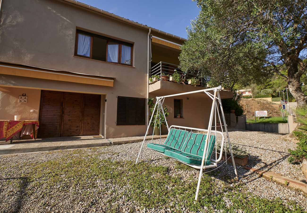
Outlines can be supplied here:
[[181, 71], [177, 65], [170, 64], [166, 62], [160, 62], [153, 66], [150, 69], [150, 76], [158, 75], [160, 76], [159, 80], [162, 81], [169, 81], [169, 76], [172, 76], [172, 74], [177, 70], [177, 73], [181, 75], [181, 80], [183, 84], [188, 84], [188, 81], [191, 78], [197, 78], [200, 81], [200, 85], [197, 86], [204, 86], [207, 87], [207, 82], [210, 80], [210, 76], [206, 77], [199, 77], [198, 74], [200, 74], [200, 70], [195, 70], [194, 73], [187, 73]]

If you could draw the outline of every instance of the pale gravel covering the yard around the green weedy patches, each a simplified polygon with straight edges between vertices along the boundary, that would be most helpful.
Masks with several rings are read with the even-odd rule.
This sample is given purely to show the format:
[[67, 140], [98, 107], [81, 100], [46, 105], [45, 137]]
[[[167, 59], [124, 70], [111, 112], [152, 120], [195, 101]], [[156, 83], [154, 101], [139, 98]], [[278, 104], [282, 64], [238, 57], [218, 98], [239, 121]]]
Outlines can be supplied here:
[[[299, 166], [293, 166], [287, 163], [286, 156], [288, 155], [287, 149], [294, 148], [295, 144], [280, 140], [280, 135], [275, 134], [263, 134], [257, 132], [230, 132], [230, 138], [233, 143], [244, 145], [250, 152], [251, 157], [248, 166], [269, 169], [270, 171], [277, 172], [279, 174], [298, 178], [302, 175], [297, 168]], [[156, 141], [157, 142], [157, 141]], [[101, 159], [112, 160], [132, 160], [135, 161], [138, 155], [138, 150], [141, 146], [140, 143], [123, 144], [119, 146], [103, 147], [98, 149], [84, 149], [85, 152], [101, 153], [99, 156]], [[270, 148], [267, 148], [270, 147]], [[36, 186], [32, 183], [28, 183], [25, 178], [22, 178], [22, 174], [27, 173], [27, 167], [11, 167], [12, 165], [22, 165], [23, 163], [31, 162], [33, 165], [42, 162], [48, 162], [50, 160], [56, 160], [61, 158], [67, 151], [54, 151], [37, 154], [25, 154], [14, 155], [8, 157], [0, 157], [0, 212], [106, 212], [107, 205], [119, 206], [120, 211], [117, 212], [189, 212], [185, 206], [177, 206], [175, 204], [169, 204], [168, 206], [160, 206], [157, 208], [143, 208], [135, 200], [126, 201], [124, 198], [112, 201], [111, 198], [114, 195], [114, 190], [129, 191], [129, 186], [120, 187], [111, 184], [97, 181], [95, 183], [99, 189], [104, 190], [97, 191], [92, 189], [89, 185], [88, 189], [66, 187], [65, 184], [54, 186], [46, 189]], [[112, 154], [113, 153], [113, 154]], [[114, 154], [117, 153], [117, 154]], [[269, 157], [268, 157], [269, 156]], [[198, 178], [197, 170], [178, 170], [175, 168], [176, 162], [173, 159], [167, 159], [165, 156], [151, 151], [144, 145], [144, 150], [140, 157], [141, 161], [149, 162], [153, 165], [169, 167], [169, 175], [181, 176], [182, 182], [188, 181], [189, 175], [194, 175], [195, 179]], [[293, 167], [295, 169], [290, 168]], [[119, 169], [119, 168], [118, 168]], [[239, 181], [235, 184], [244, 184], [240, 189], [241, 192], [251, 192], [254, 195], [260, 196], [266, 199], [282, 199], [283, 203], [288, 206], [288, 201], [294, 201], [304, 210], [307, 210], [307, 197], [299, 191], [294, 191], [275, 182], [270, 182], [266, 179], [260, 178], [258, 175], [251, 173], [237, 167], [238, 174], [240, 176]], [[291, 171], [291, 175], [288, 173]], [[213, 181], [219, 186], [223, 184], [225, 176], [234, 177], [234, 171], [231, 163], [224, 164], [216, 169], [211, 174]], [[63, 177], [64, 181], [65, 177]], [[10, 180], [12, 184], [6, 184]], [[90, 183], [90, 180], [89, 180]], [[16, 187], [16, 185], [21, 187]], [[26, 194], [26, 189], [30, 189], [31, 193], [27, 199], [22, 199]], [[107, 189], [107, 190], [105, 190]], [[84, 198], [84, 192], [91, 194], [91, 199]], [[150, 193], [150, 192], [148, 192]], [[225, 197], [225, 203], [227, 206], [232, 203]], [[291, 208], [291, 206], [289, 206]], [[214, 207], [211, 207], [214, 209]], [[203, 212], [206, 212], [207, 207]], [[210, 209], [207, 209], [210, 210]], [[238, 210], [236, 212], [242, 212]]]

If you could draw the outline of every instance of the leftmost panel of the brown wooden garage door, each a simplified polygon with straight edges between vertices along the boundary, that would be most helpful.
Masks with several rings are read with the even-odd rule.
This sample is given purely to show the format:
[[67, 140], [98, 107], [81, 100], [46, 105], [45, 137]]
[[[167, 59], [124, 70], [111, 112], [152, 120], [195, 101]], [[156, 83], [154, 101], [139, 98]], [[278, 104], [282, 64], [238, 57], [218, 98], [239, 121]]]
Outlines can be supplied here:
[[41, 92], [40, 127], [38, 137], [60, 137], [63, 93]]

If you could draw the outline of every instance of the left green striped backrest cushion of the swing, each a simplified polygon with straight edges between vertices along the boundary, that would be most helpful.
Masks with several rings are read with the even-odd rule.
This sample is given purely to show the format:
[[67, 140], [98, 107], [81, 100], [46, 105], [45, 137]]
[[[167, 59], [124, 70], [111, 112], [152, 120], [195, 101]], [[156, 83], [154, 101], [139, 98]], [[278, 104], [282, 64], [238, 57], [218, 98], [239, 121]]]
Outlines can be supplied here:
[[180, 129], [170, 129], [164, 145], [181, 150], [184, 146], [189, 132]]

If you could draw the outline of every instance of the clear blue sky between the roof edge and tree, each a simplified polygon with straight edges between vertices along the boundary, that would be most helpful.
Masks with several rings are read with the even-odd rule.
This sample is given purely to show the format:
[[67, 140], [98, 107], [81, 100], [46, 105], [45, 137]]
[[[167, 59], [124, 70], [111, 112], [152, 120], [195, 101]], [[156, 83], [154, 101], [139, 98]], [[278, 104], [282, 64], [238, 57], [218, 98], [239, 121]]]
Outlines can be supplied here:
[[135, 22], [187, 38], [186, 27], [199, 14], [192, 0], [79, 0]]

